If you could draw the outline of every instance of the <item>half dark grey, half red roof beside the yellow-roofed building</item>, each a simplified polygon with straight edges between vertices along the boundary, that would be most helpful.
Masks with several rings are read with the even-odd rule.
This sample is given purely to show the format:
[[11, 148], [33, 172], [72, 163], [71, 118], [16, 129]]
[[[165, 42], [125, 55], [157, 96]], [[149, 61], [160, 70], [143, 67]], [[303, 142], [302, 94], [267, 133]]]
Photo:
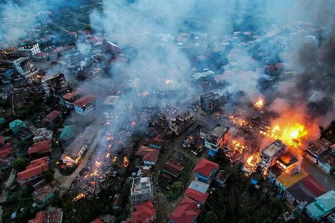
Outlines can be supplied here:
[[320, 185], [313, 177], [307, 176], [287, 188], [287, 191], [298, 201], [305, 201], [310, 204], [316, 197], [324, 194], [327, 189]]

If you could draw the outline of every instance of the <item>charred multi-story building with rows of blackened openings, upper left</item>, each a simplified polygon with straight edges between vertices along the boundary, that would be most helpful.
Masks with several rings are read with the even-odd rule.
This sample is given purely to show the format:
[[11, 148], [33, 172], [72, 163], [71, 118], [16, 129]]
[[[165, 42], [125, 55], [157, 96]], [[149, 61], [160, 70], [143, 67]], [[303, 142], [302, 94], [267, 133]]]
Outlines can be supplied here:
[[46, 96], [54, 95], [68, 89], [68, 83], [61, 72], [43, 77], [41, 83]]

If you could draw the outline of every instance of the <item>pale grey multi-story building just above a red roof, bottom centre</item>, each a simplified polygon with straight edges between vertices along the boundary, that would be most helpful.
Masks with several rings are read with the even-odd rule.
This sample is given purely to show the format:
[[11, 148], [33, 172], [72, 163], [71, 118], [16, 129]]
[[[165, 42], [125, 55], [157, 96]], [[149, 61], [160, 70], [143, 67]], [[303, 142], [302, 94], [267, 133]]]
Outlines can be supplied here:
[[152, 183], [148, 177], [135, 177], [132, 179], [130, 201], [133, 205], [149, 201], [153, 198]]

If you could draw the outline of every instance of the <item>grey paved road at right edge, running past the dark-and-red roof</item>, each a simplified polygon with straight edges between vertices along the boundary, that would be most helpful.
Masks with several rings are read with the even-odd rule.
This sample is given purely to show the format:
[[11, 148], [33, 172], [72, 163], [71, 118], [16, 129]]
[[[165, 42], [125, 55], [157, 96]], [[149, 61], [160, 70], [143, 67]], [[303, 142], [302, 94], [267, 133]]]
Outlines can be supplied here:
[[320, 170], [314, 163], [302, 159], [301, 168], [310, 174], [314, 179], [316, 179], [320, 184], [322, 184], [327, 189], [335, 190], [335, 181], [330, 178], [327, 174], [325, 174], [322, 170]]

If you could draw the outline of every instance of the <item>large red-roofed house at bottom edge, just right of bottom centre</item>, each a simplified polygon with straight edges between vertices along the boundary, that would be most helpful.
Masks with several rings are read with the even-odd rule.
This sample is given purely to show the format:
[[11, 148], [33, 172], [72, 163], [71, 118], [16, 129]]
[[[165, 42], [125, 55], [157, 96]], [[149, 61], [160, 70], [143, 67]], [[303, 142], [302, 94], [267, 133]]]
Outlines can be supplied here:
[[185, 197], [176, 209], [169, 214], [170, 223], [193, 223], [200, 214], [198, 202]]

